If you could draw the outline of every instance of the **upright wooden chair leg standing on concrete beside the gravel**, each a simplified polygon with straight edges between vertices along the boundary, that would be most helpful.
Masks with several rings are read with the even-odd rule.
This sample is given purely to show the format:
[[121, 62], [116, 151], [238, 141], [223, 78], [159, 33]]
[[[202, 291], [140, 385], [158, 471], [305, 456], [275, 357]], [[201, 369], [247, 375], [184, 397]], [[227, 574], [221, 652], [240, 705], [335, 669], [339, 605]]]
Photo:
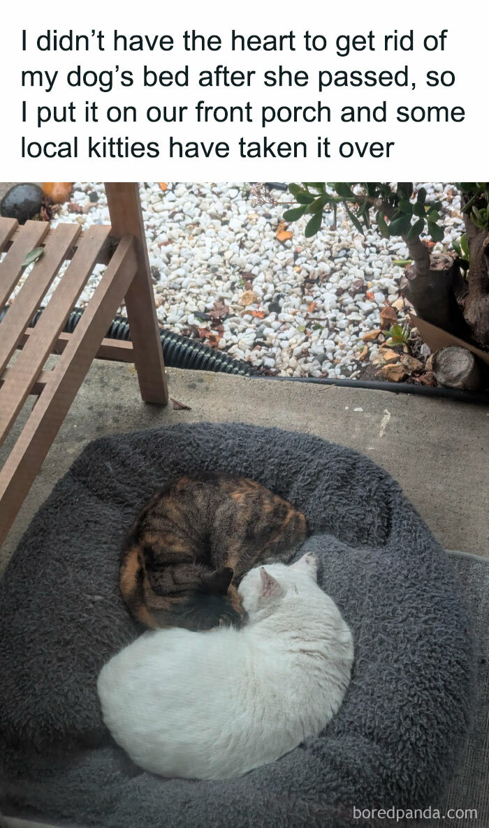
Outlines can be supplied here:
[[130, 233], [137, 239], [138, 272], [128, 288], [125, 302], [141, 396], [145, 402], [167, 405], [167, 378], [154, 304], [138, 184], [106, 183], [105, 192], [109, 204], [112, 234], [116, 238], [122, 238]]

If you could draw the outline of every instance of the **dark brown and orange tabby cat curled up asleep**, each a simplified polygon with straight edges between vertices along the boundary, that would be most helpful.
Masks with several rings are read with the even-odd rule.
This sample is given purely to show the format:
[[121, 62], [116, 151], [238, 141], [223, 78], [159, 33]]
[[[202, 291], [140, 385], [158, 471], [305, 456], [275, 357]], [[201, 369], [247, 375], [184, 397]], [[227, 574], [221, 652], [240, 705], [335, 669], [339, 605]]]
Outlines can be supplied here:
[[259, 564], [290, 561], [305, 537], [303, 513], [254, 480], [182, 477], [133, 522], [120, 590], [133, 618], [148, 627], [239, 626], [242, 577]]

